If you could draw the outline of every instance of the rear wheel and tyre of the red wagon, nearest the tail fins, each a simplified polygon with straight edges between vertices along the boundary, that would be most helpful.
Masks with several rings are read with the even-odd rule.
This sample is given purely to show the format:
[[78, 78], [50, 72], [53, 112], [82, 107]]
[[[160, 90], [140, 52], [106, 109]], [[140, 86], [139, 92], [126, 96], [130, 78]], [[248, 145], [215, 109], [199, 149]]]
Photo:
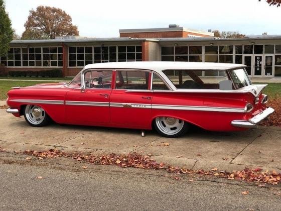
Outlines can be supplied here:
[[157, 117], [154, 126], [159, 134], [167, 138], [182, 136], [189, 128], [185, 121], [172, 117]]

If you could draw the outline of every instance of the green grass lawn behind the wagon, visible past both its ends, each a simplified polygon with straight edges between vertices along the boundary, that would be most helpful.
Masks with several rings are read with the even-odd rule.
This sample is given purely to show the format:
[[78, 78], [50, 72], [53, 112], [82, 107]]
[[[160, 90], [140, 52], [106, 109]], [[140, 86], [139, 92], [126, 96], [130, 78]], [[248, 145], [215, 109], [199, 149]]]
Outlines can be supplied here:
[[[51, 81], [47, 81], [46, 83], [52, 83]], [[9, 81], [9, 80], [0, 80], [0, 100], [6, 100], [7, 92], [15, 86], [31, 86], [38, 83], [43, 83], [40, 81]], [[45, 81], [44, 81], [45, 83]], [[257, 84], [257, 83], [256, 83]], [[263, 93], [269, 96], [279, 95], [281, 96], [281, 83], [268, 83], [265, 87]]]

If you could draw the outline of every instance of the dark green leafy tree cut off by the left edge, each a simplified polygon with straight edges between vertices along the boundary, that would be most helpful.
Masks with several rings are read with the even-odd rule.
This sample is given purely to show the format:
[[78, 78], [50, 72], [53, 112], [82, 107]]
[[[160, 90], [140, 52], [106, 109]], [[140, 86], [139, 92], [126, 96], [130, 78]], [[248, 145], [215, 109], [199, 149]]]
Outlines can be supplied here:
[[4, 56], [9, 51], [9, 43], [13, 40], [14, 30], [12, 23], [5, 11], [4, 0], [0, 0], [0, 56]]

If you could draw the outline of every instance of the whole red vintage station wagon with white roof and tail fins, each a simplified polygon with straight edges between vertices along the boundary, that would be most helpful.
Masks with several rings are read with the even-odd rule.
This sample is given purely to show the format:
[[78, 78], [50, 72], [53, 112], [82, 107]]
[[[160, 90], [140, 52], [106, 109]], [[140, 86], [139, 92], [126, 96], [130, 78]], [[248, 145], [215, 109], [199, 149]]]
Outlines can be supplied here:
[[14, 87], [8, 113], [35, 127], [59, 124], [151, 130], [178, 137], [196, 125], [240, 131], [274, 112], [240, 64], [112, 62], [86, 65], [69, 83]]

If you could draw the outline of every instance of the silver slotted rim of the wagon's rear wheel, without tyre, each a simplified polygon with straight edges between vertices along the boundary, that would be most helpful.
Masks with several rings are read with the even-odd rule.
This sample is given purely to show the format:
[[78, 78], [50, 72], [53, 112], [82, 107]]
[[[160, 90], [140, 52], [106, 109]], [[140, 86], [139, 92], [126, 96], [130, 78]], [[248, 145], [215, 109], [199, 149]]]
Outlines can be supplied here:
[[184, 127], [184, 121], [172, 117], [157, 117], [156, 125], [162, 133], [175, 135]]

